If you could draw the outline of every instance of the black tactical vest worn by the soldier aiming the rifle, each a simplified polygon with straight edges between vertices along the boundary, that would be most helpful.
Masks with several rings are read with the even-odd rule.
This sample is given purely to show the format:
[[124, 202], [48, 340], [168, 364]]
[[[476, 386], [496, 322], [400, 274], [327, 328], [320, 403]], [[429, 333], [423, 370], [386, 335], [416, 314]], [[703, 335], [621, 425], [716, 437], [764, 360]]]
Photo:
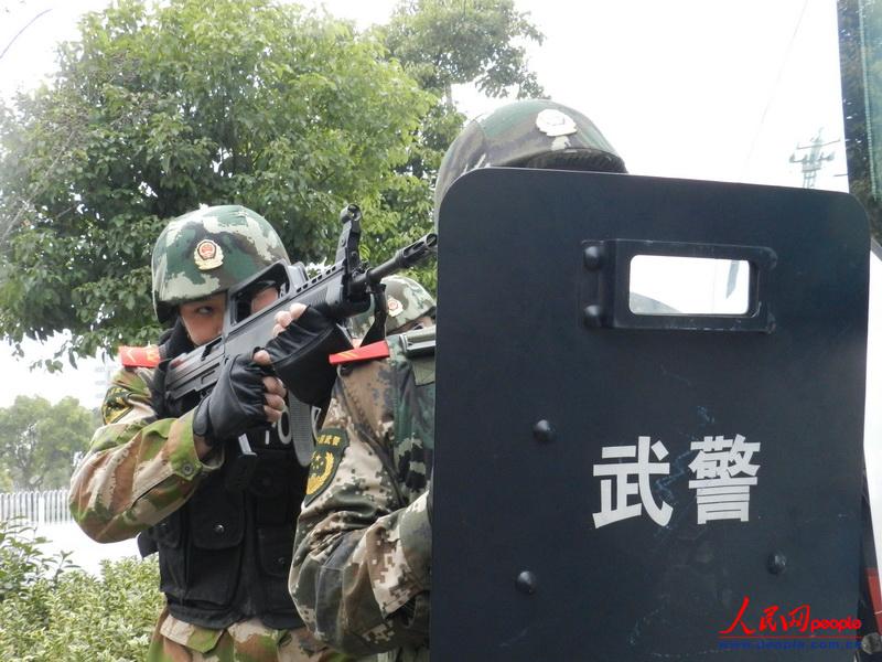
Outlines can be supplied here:
[[[163, 380], [153, 387], [163, 389]], [[157, 407], [162, 397], [153, 395]], [[157, 408], [160, 416], [175, 414]], [[227, 448], [224, 465], [202, 479], [190, 500], [141, 534], [142, 554], [159, 552], [160, 590], [175, 618], [206, 628], [255, 617], [276, 629], [302, 624], [288, 572], [309, 469], [278, 429], [248, 433], [258, 462], [245, 489], [226, 485], [236, 457]]]

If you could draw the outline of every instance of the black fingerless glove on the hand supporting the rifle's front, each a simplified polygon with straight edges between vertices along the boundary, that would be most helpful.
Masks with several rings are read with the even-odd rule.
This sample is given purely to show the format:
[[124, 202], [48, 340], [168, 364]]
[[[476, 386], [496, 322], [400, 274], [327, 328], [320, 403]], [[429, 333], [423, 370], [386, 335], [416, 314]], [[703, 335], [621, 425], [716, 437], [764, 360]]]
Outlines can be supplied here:
[[337, 377], [327, 357], [351, 349], [343, 328], [314, 308], [306, 308], [266, 346], [272, 369], [288, 391], [301, 403], [316, 407], [327, 402]]

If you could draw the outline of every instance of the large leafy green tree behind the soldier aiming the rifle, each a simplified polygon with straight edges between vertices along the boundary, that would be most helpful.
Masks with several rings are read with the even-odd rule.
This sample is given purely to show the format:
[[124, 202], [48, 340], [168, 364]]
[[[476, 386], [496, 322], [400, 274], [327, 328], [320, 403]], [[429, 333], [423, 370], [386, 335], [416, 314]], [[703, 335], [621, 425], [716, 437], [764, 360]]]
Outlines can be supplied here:
[[118, 0], [64, 44], [51, 87], [0, 115], [0, 333], [69, 329], [73, 361], [155, 339], [149, 257], [200, 204], [263, 214], [325, 258], [429, 98], [376, 39], [269, 0]]

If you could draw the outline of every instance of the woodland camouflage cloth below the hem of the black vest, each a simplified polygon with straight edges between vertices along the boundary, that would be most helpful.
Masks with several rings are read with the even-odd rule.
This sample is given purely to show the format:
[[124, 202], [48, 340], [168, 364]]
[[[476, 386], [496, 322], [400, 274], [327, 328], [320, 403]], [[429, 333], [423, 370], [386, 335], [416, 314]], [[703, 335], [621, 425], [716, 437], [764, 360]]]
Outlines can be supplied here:
[[315, 640], [306, 628], [273, 630], [258, 619], [211, 630], [185, 623], [164, 609], [147, 662], [345, 662], [352, 660]]

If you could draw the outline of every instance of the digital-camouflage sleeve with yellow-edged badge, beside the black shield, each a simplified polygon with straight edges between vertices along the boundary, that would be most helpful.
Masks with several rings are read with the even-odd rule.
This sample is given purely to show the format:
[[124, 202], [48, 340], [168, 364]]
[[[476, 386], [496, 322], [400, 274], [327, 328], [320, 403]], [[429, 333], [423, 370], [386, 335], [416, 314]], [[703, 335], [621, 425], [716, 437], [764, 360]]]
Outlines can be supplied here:
[[316, 442], [289, 589], [305, 624], [351, 655], [429, 637], [427, 494], [402, 496], [391, 467], [388, 364], [341, 377]]

